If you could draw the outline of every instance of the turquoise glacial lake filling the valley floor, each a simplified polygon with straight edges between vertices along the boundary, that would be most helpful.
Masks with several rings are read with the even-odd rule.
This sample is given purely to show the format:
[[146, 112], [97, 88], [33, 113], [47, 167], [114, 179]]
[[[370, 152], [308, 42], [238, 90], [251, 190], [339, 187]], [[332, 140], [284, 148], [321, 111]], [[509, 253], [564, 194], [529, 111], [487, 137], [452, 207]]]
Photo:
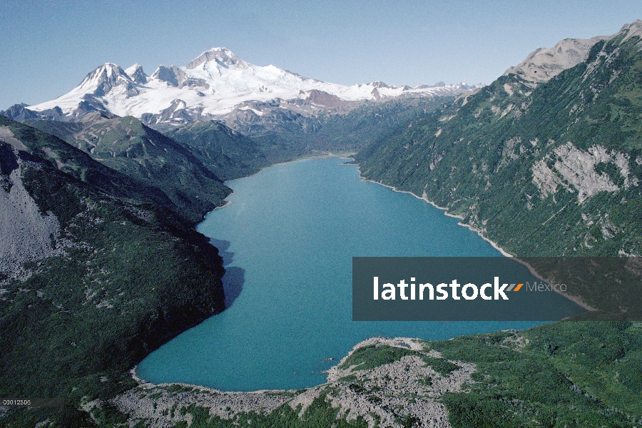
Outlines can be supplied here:
[[[307, 159], [226, 183], [230, 203], [198, 230], [225, 261], [228, 308], [151, 353], [140, 377], [227, 391], [298, 389], [324, 383], [323, 371], [368, 337], [441, 340], [538, 324], [353, 322], [353, 256], [501, 254], [457, 218], [363, 181], [345, 162]], [[547, 294], [561, 314], [581, 312]]]

